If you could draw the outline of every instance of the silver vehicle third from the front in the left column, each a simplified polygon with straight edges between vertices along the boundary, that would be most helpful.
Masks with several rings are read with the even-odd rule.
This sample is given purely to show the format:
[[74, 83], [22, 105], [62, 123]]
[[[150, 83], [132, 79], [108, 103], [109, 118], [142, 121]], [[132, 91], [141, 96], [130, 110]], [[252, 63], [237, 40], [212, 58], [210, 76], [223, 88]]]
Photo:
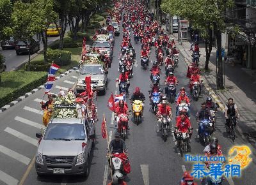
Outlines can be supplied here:
[[108, 54], [108, 56], [110, 57], [111, 61], [112, 61], [113, 46], [112, 46], [112, 44], [109, 41], [97, 40], [97, 41], [93, 42], [92, 50], [95, 51], [95, 52], [97, 50], [99, 50], [99, 54], [101, 54], [101, 55], [106, 52]]

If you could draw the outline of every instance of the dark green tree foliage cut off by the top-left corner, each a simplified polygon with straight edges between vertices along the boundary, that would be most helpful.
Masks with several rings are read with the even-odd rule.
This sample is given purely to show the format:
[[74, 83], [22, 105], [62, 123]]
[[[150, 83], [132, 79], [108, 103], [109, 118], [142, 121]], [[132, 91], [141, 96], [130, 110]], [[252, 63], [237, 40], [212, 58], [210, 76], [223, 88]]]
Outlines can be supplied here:
[[10, 0], [0, 1], [0, 36], [1, 39], [10, 36], [10, 23], [12, 15], [12, 3]]

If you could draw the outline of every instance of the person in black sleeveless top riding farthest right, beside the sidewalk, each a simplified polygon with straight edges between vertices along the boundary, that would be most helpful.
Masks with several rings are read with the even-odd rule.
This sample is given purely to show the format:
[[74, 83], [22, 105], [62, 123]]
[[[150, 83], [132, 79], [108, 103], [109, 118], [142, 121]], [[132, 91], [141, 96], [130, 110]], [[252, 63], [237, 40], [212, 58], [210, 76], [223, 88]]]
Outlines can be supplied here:
[[[232, 116], [240, 117], [237, 105], [234, 103], [233, 98], [228, 98], [228, 103], [225, 105], [226, 128], [229, 128], [230, 118]], [[236, 117], [234, 119], [235, 126], [237, 124]]]

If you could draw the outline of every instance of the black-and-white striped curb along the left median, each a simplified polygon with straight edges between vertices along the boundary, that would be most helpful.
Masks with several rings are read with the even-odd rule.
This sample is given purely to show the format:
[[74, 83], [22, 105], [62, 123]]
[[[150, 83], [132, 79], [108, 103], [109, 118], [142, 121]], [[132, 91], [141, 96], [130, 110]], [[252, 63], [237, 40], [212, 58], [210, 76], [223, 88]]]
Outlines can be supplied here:
[[[56, 81], [59, 80], [61, 77], [64, 77], [65, 75], [68, 75], [68, 73], [71, 73], [74, 70], [77, 70], [77, 67], [72, 68], [71, 70], [65, 71], [65, 73], [60, 74], [60, 76], [56, 77]], [[46, 84], [46, 83], [45, 83]], [[36, 91], [39, 91], [40, 89], [43, 89], [44, 85], [40, 85], [38, 87], [36, 87], [36, 89], [33, 89], [32, 91], [30, 91], [29, 93], [24, 94], [23, 96], [20, 96], [19, 98], [17, 98], [16, 100], [8, 103], [7, 105], [4, 105], [3, 107], [0, 108], [0, 113], [6, 111], [8, 108], [13, 107], [13, 105], [16, 105], [17, 103], [19, 103], [22, 100], [25, 100], [25, 98], [28, 98], [31, 94], [36, 93]]]

